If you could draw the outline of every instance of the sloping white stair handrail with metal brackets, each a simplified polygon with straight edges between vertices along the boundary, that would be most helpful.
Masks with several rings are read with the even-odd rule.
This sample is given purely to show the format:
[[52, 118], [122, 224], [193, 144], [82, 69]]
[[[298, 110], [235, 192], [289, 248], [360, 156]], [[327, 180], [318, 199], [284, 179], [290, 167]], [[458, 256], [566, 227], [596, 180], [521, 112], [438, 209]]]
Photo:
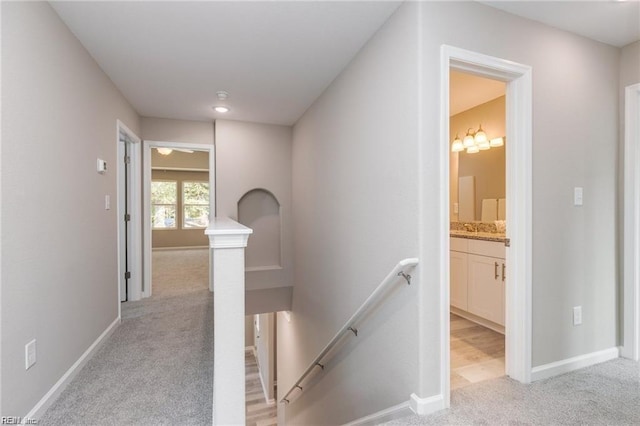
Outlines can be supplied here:
[[358, 329], [355, 327], [355, 324], [358, 320], [367, 313], [368, 309], [377, 301], [378, 297], [387, 289], [389, 285], [394, 283], [398, 277], [402, 277], [407, 281], [407, 284], [411, 284], [411, 275], [407, 274], [405, 270], [409, 268], [413, 268], [418, 264], [418, 259], [415, 257], [403, 259], [389, 272], [389, 274], [382, 280], [382, 282], [376, 287], [376, 289], [367, 297], [362, 305], [356, 310], [356, 312], [347, 320], [347, 322], [338, 330], [338, 332], [333, 336], [333, 338], [326, 344], [326, 346], [320, 351], [320, 353], [311, 361], [306, 370], [300, 375], [300, 378], [296, 380], [296, 382], [291, 386], [289, 391], [280, 399], [280, 402], [290, 403], [291, 399], [289, 395], [296, 389], [300, 389], [302, 391], [302, 382], [304, 379], [311, 374], [311, 372], [316, 368], [320, 367], [324, 370], [325, 364], [320, 363], [322, 358], [329, 353], [329, 351], [338, 343], [338, 341], [347, 333], [351, 332], [354, 336], [358, 336]]

